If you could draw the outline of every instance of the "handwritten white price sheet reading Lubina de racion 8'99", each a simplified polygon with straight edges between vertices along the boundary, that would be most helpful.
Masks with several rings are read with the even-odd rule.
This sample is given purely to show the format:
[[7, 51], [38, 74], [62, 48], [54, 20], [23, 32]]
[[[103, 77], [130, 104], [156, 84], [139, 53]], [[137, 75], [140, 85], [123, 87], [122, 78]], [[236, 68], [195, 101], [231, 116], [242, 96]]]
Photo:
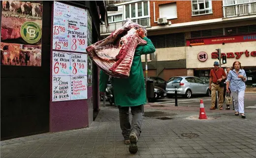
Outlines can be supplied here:
[[87, 75], [87, 55], [71, 54], [71, 75]]

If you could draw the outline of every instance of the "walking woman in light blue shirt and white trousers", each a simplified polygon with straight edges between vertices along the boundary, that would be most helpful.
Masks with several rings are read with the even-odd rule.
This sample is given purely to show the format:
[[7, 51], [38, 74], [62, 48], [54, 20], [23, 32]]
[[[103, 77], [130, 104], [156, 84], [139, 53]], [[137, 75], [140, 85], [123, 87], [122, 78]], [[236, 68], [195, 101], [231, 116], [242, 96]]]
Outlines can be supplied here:
[[[240, 113], [243, 119], [246, 118], [244, 114], [244, 96], [246, 81], [246, 73], [245, 70], [242, 69], [241, 63], [238, 61], [234, 62], [232, 71], [229, 71], [227, 76], [226, 91], [228, 93], [231, 91], [231, 95], [234, 99], [235, 115], [239, 116]], [[230, 88], [230, 91], [228, 88]]]

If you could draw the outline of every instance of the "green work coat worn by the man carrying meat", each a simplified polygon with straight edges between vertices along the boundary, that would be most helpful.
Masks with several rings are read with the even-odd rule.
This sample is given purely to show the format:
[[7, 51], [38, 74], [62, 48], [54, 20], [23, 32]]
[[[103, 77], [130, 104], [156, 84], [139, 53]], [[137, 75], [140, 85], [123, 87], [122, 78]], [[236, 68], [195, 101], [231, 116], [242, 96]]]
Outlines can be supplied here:
[[[156, 51], [153, 43], [147, 37], [143, 38], [147, 44], [138, 45], [130, 68], [128, 78], [113, 78], [113, 92], [115, 104], [119, 106], [138, 106], [146, 103], [146, 88], [141, 63], [141, 55]], [[109, 76], [100, 70], [99, 91], [105, 92]]]

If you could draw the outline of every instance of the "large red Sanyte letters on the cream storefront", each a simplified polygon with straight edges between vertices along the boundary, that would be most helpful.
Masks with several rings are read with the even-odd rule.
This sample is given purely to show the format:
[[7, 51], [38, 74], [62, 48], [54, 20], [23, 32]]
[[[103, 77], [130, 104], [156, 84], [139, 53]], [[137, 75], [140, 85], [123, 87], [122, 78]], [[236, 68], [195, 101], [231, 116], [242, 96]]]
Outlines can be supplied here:
[[[252, 57], [256, 57], [256, 51], [252, 51], [251, 53], [249, 51], [245, 52], [229, 52], [229, 53], [222, 53], [221, 56], [226, 56], [226, 58], [235, 58], [235, 59], [240, 59], [240, 57], [245, 54], [246, 57], [249, 57], [250, 54]], [[212, 59], [218, 59], [219, 54], [218, 52], [212, 52]]]

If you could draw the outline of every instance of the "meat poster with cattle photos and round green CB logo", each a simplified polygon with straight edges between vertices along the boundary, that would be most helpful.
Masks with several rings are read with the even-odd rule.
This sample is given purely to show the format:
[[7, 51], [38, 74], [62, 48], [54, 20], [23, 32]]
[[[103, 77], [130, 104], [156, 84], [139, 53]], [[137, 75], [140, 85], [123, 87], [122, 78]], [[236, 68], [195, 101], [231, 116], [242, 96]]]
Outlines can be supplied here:
[[1, 65], [41, 66], [42, 1], [3, 0]]

